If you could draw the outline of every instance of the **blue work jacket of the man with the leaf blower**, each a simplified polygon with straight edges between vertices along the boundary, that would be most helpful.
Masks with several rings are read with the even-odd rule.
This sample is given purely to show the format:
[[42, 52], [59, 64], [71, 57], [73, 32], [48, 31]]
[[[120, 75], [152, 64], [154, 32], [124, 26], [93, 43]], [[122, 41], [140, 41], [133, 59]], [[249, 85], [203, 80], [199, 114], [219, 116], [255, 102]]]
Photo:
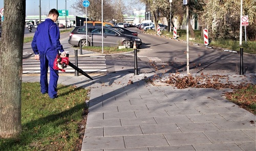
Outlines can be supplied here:
[[59, 41], [59, 28], [52, 19], [47, 18], [36, 28], [33, 41], [31, 43], [33, 52], [37, 54], [46, 54], [56, 56], [59, 51], [63, 52], [63, 47]]

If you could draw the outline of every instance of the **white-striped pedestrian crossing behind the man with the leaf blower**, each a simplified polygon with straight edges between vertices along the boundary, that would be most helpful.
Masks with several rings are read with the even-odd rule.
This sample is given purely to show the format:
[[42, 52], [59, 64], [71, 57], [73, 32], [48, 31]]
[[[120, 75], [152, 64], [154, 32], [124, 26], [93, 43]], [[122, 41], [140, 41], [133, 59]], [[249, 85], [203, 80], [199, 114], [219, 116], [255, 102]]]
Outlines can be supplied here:
[[[105, 55], [79, 56], [78, 68], [84, 72], [106, 72]], [[69, 61], [75, 65], [75, 57], [70, 57]], [[74, 73], [75, 70], [68, 66], [66, 73]], [[61, 71], [59, 71], [61, 73]], [[34, 58], [23, 59], [23, 74], [40, 73], [40, 62]]]

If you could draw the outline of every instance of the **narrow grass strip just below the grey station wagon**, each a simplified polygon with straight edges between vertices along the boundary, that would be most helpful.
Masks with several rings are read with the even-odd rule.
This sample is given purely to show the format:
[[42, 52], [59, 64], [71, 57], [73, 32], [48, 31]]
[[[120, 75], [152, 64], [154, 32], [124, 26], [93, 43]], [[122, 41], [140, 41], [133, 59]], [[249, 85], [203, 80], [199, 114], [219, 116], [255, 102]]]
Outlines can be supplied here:
[[[82, 49], [102, 53], [102, 47], [84, 46], [84, 47], [82, 47]], [[114, 54], [114, 53], [130, 52], [130, 51], [134, 51], [134, 49], [132, 49], [132, 48], [118, 49], [117, 46], [116, 47], [103, 47], [104, 54]]]

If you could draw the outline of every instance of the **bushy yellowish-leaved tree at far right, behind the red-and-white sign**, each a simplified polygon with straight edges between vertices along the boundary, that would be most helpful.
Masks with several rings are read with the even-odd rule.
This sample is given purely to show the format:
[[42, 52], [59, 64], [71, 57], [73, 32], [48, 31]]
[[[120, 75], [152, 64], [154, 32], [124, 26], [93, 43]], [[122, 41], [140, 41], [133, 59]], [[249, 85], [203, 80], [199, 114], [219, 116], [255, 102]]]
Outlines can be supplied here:
[[[241, 1], [208, 0], [205, 5], [204, 21], [214, 39], [233, 39], [238, 40], [240, 34], [240, 9]], [[256, 1], [243, 0], [243, 15], [249, 16], [248, 37], [256, 39], [255, 19]]]

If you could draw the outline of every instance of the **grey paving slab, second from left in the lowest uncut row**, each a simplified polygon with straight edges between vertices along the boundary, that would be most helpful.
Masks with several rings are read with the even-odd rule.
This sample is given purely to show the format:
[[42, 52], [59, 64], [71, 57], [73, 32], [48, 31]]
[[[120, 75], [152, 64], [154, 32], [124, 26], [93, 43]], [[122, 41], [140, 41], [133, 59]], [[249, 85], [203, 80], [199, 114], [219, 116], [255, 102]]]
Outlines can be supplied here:
[[129, 147], [154, 147], [168, 146], [168, 142], [162, 134], [124, 136], [125, 146]]

